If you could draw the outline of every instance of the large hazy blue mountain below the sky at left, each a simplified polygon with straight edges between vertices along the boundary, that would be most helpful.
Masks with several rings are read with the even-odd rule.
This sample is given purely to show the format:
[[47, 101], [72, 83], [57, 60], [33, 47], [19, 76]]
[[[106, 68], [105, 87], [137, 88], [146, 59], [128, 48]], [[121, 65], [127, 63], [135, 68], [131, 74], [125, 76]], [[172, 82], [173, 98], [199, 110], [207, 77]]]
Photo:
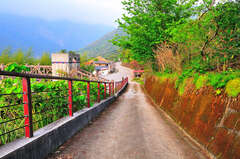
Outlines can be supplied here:
[[47, 21], [40, 18], [0, 14], [0, 51], [7, 47], [32, 48], [35, 56], [61, 49], [79, 50], [113, 30], [104, 25]]

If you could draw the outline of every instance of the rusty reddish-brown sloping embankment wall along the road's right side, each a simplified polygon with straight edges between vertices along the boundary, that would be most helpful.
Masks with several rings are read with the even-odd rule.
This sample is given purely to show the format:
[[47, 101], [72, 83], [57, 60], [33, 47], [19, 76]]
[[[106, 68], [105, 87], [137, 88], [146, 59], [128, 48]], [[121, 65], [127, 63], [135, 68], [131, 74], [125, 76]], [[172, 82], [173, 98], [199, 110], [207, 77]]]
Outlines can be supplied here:
[[240, 97], [216, 96], [209, 87], [178, 95], [171, 81], [147, 77], [144, 87], [157, 105], [216, 157], [240, 158]]

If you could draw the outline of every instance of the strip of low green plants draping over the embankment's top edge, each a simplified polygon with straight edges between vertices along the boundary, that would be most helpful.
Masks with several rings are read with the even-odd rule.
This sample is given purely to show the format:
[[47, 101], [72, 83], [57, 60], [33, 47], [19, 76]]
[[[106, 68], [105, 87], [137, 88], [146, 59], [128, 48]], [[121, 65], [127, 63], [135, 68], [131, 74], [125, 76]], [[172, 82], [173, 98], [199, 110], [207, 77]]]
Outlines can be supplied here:
[[[238, 92], [238, 83], [240, 78], [240, 72], [206, 72], [199, 74], [191, 70], [184, 70], [182, 74], [173, 73], [154, 73], [160, 81], [172, 80], [175, 82], [175, 87], [178, 89], [180, 95], [185, 91], [187, 83], [195, 85], [196, 89], [200, 89], [204, 86], [211, 86], [216, 90], [216, 94], [219, 95], [226, 90], [226, 93], [230, 96], [236, 97]], [[193, 79], [193, 80], [191, 80]]]

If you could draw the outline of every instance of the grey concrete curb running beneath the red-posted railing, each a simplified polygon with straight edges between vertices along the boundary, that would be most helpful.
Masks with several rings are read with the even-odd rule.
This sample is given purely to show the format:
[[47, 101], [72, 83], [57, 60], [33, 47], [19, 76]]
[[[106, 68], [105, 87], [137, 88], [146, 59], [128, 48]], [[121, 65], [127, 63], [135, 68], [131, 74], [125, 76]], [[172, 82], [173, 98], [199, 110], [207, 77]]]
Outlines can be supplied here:
[[91, 108], [74, 113], [73, 117], [61, 118], [34, 132], [32, 138], [20, 138], [0, 147], [1, 159], [43, 159], [60, 145], [88, 125], [105, 108], [110, 106], [127, 88], [128, 83], [116, 93]]

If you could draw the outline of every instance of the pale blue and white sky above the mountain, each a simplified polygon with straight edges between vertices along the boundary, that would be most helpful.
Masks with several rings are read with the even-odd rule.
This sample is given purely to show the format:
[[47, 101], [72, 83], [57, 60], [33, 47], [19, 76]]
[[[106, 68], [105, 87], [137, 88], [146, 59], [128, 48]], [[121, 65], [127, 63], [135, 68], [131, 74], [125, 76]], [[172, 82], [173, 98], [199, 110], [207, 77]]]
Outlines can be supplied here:
[[121, 0], [1, 0], [0, 13], [116, 27]]

